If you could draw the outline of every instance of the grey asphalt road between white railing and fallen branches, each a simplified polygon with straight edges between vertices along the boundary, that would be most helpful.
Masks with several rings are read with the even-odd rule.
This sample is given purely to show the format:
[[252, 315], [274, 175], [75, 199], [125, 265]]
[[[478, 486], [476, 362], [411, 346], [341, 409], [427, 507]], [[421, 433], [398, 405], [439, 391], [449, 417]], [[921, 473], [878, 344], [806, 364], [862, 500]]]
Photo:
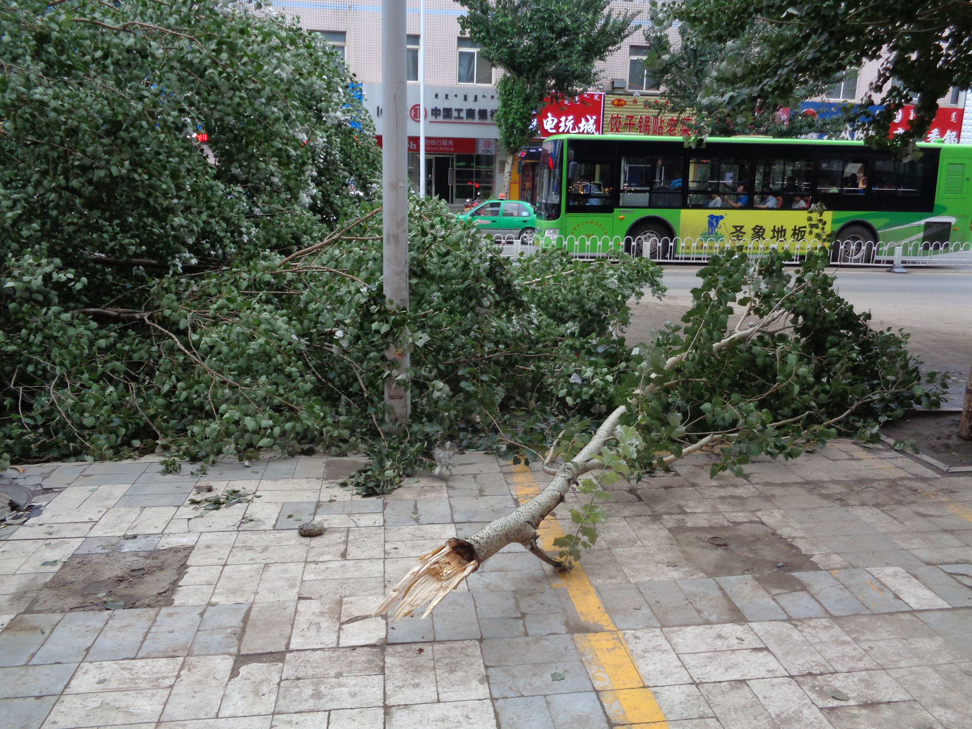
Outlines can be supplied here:
[[[701, 266], [665, 266], [663, 301], [645, 296], [632, 310], [626, 339], [650, 341], [666, 322], [677, 322], [691, 303]], [[949, 403], [960, 406], [972, 364], [972, 267], [909, 269], [905, 274], [884, 268], [843, 268], [836, 271], [837, 288], [858, 311], [869, 310], [872, 325], [903, 329], [911, 334], [910, 349], [923, 369], [950, 372]]]

